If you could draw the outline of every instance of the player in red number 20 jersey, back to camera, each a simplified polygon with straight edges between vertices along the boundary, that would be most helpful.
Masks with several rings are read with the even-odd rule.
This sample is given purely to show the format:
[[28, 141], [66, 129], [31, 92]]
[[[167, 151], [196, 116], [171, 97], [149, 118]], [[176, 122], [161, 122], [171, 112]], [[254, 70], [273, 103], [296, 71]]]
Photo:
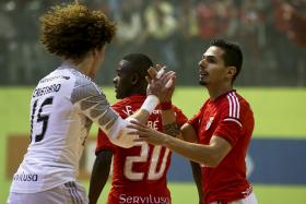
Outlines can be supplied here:
[[[111, 108], [122, 118], [136, 112], [143, 104], [148, 86], [145, 76], [152, 65], [151, 59], [141, 53], [128, 55], [119, 62], [114, 83], [116, 98], [121, 100], [114, 104]], [[150, 116], [148, 127], [156, 131], [170, 130], [172, 127], [163, 127], [161, 108], [165, 108], [163, 103]], [[172, 108], [176, 112], [177, 124], [184, 124], [187, 121], [185, 115], [175, 106]], [[108, 204], [172, 203], [166, 179], [172, 152], [146, 142], [137, 142], [131, 148], [121, 148], [111, 144], [107, 135], [99, 130], [89, 194], [91, 204], [97, 202], [107, 181], [111, 157], [114, 157], [114, 173]]]

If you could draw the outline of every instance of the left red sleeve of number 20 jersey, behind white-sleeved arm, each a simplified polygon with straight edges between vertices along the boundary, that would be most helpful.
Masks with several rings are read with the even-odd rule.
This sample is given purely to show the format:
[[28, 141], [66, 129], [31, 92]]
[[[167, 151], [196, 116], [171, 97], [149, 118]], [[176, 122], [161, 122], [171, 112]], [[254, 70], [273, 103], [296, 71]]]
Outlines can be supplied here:
[[[127, 115], [122, 111], [122, 108], [123, 108], [123, 104], [121, 103], [117, 103], [117, 104], [114, 104], [111, 106], [111, 108], [118, 112], [120, 115], [120, 117], [122, 119], [127, 118]], [[110, 149], [113, 152], [116, 152], [116, 148], [118, 148], [118, 146], [114, 145], [108, 136], [99, 129], [98, 130], [98, 133], [97, 133], [97, 140], [96, 140], [96, 149], [95, 149], [95, 153], [97, 154], [99, 151], [102, 149]]]

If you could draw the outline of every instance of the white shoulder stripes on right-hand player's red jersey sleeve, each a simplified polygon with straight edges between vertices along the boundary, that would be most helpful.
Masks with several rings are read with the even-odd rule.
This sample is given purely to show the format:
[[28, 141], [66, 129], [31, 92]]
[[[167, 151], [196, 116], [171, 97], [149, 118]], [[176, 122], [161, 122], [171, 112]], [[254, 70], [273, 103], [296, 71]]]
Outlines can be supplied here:
[[224, 119], [224, 121], [233, 121], [238, 123], [243, 127], [242, 122], [239, 121], [240, 117], [240, 104], [238, 97], [235, 92], [231, 92], [227, 94], [227, 100], [229, 105], [228, 109], [228, 118]]

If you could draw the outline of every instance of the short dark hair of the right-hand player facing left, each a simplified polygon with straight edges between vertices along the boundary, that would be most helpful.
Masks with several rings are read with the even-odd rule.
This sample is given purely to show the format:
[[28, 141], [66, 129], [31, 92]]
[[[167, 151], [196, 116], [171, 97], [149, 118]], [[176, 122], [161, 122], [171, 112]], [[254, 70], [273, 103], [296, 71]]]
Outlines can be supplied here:
[[226, 67], [235, 67], [237, 69], [236, 74], [233, 77], [233, 82], [240, 73], [243, 67], [243, 51], [238, 44], [226, 41], [224, 39], [214, 39], [210, 46], [220, 47], [224, 50], [223, 60]]

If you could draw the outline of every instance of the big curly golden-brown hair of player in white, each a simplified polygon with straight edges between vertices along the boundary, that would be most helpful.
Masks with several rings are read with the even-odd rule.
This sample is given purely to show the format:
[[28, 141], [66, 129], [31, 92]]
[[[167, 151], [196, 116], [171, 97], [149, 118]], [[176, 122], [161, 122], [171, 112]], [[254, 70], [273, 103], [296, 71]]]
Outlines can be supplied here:
[[110, 43], [116, 26], [103, 12], [71, 3], [52, 7], [40, 17], [40, 43], [59, 57], [79, 59]]

